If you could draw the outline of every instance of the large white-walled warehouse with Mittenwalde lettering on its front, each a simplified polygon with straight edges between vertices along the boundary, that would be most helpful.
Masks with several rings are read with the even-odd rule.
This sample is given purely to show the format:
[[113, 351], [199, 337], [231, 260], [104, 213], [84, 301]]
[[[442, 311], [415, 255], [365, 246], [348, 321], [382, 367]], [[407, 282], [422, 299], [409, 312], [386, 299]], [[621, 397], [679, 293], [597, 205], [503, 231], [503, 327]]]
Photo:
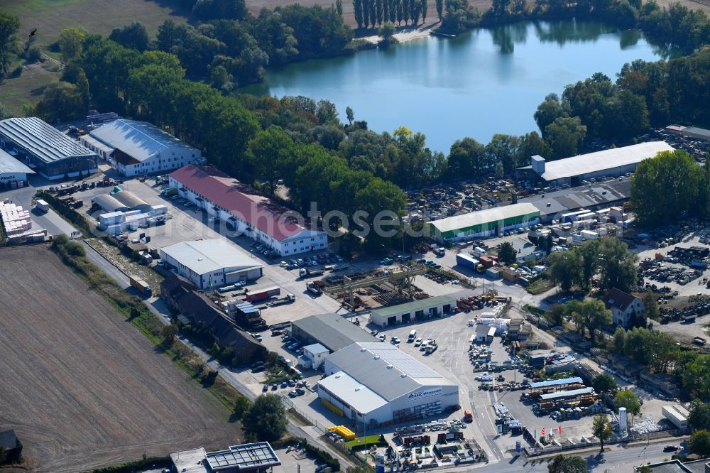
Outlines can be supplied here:
[[357, 431], [459, 408], [459, 387], [391, 344], [355, 343], [324, 361], [321, 402]]

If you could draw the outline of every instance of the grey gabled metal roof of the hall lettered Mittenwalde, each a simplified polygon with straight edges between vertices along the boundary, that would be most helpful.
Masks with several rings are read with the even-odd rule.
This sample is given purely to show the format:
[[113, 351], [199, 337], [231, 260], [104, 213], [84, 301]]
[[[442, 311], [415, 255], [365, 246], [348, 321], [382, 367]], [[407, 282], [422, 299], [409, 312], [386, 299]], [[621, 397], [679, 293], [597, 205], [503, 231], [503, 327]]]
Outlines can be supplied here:
[[422, 386], [454, 386], [451, 381], [392, 344], [351, 344], [330, 354], [327, 360], [387, 401]]

